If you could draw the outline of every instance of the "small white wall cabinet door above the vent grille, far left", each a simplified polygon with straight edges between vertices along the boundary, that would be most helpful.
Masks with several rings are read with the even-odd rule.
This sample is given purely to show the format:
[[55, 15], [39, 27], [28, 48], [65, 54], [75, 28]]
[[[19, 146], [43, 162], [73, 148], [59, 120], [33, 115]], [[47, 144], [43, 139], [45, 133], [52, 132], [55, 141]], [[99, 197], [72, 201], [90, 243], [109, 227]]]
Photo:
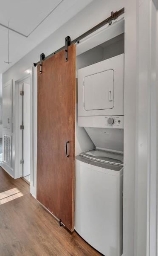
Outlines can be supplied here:
[[12, 80], [3, 85], [3, 128], [11, 129]]

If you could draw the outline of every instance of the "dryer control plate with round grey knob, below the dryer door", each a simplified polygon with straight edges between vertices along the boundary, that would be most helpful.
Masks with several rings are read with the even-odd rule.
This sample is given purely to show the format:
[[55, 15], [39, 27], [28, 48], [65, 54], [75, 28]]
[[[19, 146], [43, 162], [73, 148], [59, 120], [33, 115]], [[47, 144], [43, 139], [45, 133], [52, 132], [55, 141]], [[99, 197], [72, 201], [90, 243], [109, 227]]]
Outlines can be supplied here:
[[105, 116], [105, 125], [109, 128], [123, 128], [124, 116]]

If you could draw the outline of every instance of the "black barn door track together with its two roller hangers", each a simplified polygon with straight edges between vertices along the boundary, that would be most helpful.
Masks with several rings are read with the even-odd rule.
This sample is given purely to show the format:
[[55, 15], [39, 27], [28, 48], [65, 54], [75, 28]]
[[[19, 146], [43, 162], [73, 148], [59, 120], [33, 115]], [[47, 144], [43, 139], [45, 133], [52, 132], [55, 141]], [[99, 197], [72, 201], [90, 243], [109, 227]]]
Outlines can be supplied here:
[[119, 11], [116, 12], [111, 12], [111, 15], [103, 20], [101, 23], [97, 24], [96, 26], [94, 26], [93, 28], [89, 29], [88, 31], [86, 31], [85, 33], [83, 33], [82, 35], [80, 35], [78, 38], [74, 39], [73, 41], [71, 41], [70, 36], [67, 36], [65, 38], [65, 46], [59, 48], [58, 50], [56, 50], [55, 52], [51, 53], [50, 55], [48, 55], [47, 57], [45, 57], [44, 53], [42, 53], [40, 55], [40, 61], [38, 61], [37, 63], [34, 63], [34, 67], [37, 66], [37, 64], [40, 64], [40, 73], [42, 73], [42, 61], [45, 59], [48, 59], [50, 57], [52, 57], [53, 55], [55, 55], [57, 52], [60, 52], [61, 50], [65, 49], [65, 61], [68, 61], [68, 46], [70, 46], [71, 44], [76, 44], [79, 43], [80, 40], [82, 40], [83, 38], [85, 38], [86, 36], [92, 34], [93, 32], [95, 32], [97, 29], [100, 29], [102, 26], [109, 24], [112, 24], [113, 20], [116, 20], [119, 16], [121, 16], [122, 14], [124, 14], [124, 8], [120, 9]]

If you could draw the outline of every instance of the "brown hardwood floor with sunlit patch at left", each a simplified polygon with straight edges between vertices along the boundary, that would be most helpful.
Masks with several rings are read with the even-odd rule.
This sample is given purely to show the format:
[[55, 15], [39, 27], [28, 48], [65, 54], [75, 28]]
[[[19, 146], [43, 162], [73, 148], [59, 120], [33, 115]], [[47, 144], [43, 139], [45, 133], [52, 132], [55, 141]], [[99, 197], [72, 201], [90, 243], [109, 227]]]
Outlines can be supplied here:
[[59, 223], [0, 167], [0, 256], [99, 256], [76, 232]]

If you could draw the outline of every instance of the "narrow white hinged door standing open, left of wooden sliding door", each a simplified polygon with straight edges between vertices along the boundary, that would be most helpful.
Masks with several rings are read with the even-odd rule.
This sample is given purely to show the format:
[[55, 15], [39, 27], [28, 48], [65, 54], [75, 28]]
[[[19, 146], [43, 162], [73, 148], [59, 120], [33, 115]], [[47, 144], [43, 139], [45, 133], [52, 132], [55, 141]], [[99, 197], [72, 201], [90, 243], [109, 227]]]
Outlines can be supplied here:
[[30, 175], [30, 84], [23, 83], [23, 177]]

